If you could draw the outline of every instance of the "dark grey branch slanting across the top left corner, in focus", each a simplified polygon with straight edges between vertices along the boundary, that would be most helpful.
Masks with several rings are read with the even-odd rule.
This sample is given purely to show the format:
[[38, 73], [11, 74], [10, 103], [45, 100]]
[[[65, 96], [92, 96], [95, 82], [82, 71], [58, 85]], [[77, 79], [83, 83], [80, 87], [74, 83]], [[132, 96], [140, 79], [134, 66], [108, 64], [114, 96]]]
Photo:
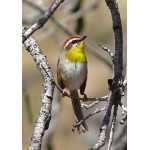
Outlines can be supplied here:
[[44, 13], [44, 15], [36, 22], [34, 23], [30, 28], [27, 29], [25, 33], [22, 35], [22, 43], [27, 40], [27, 38], [32, 35], [36, 30], [40, 29], [44, 26], [44, 24], [47, 22], [47, 20], [52, 16], [52, 14], [55, 12], [55, 10], [60, 6], [61, 3], [63, 3], [64, 0], [55, 0], [52, 5], [48, 8], [48, 10]]

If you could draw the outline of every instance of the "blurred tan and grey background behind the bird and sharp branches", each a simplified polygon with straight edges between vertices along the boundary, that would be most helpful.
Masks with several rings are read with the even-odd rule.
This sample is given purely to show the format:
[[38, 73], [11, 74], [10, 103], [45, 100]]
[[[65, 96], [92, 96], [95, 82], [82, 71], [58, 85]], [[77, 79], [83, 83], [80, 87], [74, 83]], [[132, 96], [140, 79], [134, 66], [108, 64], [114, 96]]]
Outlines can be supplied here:
[[[23, 26], [29, 27], [34, 24], [52, 2], [52, 0], [23, 0]], [[127, 1], [118, 0], [117, 2], [123, 28], [124, 75], [127, 63]], [[85, 90], [87, 96], [102, 97], [107, 95], [109, 92], [107, 80], [112, 78], [112, 69], [109, 65], [111, 59], [108, 53], [100, 50], [98, 44], [107, 46], [112, 52], [114, 52], [115, 45], [111, 14], [104, 0], [65, 0], [44, 27], [33, 34], [43, 54], [48, 59], [55, 79], [57, 78], [57, 60], [62, 51], [62, 44], [66, 37], [74, 33], [87, 36], [85, 40], [85, 53], [88, 60], [88, 80]], [[26, 150], [30, 144], [34, 123], [41, 107], [42, 77], [30, 53], [25, 50], [24, 45], [22, 48], [22, 149]], [[126, 98], [125, 94], [122, 98], [125, 105]], [[105, 105], [106, 102], [100, 102], [88, 110], [84, 108], [84, 116]], [[71, 101], [67, 97], [62, 98], [55, 88], [52, 119], [49, 130], [43, 136], [42, 149], [87, 150], [91, 148], [98, 140], [104, 114], [105, 112], [101, 112], [87, 120], [89, 132], [80, 135], [77, 132], [73, 133], [71, 129], [72, 125], [75, 124], [75, 119]], [[121, 116], [122, 113], [119, 108], [115, 138], [119, 137], [119, 131], [123, 128], [123, 138], [120, 137], [120, 140], [126, 145], [126, 124], [119, 124]], [[115, 144], [117, 143], [114, 141], [112, 149], [117, 150]], [[106, 146], [102, 150], [105, 150]], [[126, 147], [119, 149], [125, 150]]]

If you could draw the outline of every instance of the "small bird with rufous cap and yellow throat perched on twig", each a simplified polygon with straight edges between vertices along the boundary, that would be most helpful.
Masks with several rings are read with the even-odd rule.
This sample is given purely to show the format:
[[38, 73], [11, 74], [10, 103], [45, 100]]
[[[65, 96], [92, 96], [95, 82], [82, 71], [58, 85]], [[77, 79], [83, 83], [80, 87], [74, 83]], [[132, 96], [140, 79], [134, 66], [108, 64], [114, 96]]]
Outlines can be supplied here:
[[[78, 89], [80, 94], [85, 94], [85, 87], [87, 82], [87, 58], [84, 52], [84, 39], [87, 36], [72, 35], [68, 37], [63, 44], [63, 51], [61, 52], [57, 62], [57, 82], [59, 87], [63, 90], [65, 95], [66, 90], [70, 92], [72, 106], [75, 114], [76, 122], [84, 119], [81, 103], [78, 99]], [[88, 131], [88, 126], [85, 121], [77, 127], [78, 133], [85, 133]]]

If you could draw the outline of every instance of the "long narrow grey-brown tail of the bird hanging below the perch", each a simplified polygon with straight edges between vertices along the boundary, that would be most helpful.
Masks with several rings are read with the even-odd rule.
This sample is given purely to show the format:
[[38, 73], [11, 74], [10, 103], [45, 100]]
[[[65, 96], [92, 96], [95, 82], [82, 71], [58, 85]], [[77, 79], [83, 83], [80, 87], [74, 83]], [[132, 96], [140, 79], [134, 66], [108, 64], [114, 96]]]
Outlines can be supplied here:
[[[74, 114], [75, 114], [75, 119], [77, 122], [79, 122], [84, 118], [84, 116], [83, 116], [80, 100], [78, 99], [78, 97], [79, 97], [78, 91], [77, 90], [70, 91], [70, 95], [73, 97], [71, 100], [72, 100], [73, 110], [74, 110]], [[80, 125], [80, 127], [78, 127], [78, 132], [81, 133], [81, 132], [85, 132], [85, 131], [88, 131], [88, 126], [87, 126], [86, 122], [84, 121]]]

